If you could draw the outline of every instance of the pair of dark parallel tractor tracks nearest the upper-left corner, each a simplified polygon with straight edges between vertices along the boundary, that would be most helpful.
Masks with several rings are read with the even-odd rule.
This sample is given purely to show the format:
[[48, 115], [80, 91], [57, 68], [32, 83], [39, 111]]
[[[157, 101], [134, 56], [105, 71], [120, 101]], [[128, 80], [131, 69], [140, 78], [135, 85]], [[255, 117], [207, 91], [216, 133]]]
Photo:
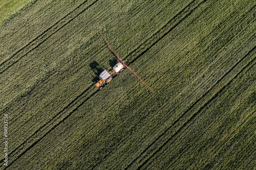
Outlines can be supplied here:
[[[3, 63], [0, 64], [0, 66], [2, 66], [3, 64], [5, 64], [6, 62], [10, 61], [12, 58], [14, 58], [14, 56], [16, 56], [19, 52], [22, 52], [23, 50], [26, 50], [26, 48], [30, 48], [30, 45], [33, 45], [33, 42], [36, 41], [37, 39], [40, 38], [44, 38], [45, 36], [47, 36], [46, 34], [50, 31], [50, 30], [55, 30], [53, 33], [51, 33], [50, 35], [48, 35], [45, 39], [40, 40], [40, 42], [38, 42], [38, 44], [34, 47], [31, 48], [31, 50], [29, 50], [28, 52], [26, 52], [24, 55], [22, 55], [21, 57], [19, 57], [16, 61], [13, 61], [12, 63], [10, 63], [6, 68], [2, 69], [0, 71], [0, 75], [3, 74], [3, 72], [5, 72], [7, 69], [9, 69], [12, 65], [14, 65], [15, 63], [17, 63], [20, 59], [22, 59], [23, 57], [25, 57], [28, 53], [30, 53], [31, 51], [35, 50], [35, 48], [37, 48], [40, 44], [44, 43], [48, 38], [50, 38], [53, 34], [55, 34], [56, 32], [58, 32], [60, 29], [62, 29], [63, 27], [65, 27], [66, 25], [68, 25], [68, 23], [70, 23], [71, 21], [73, 21], [77, 16], [79, 16], [80, 14], [82, 14], [84, 11], [86, 11], [87, 9], [89, 9], [91, 6], [93, 6], [98, 0], [94, 1], [92, 4], [90, 4], [88, 7], [84, 8], [82, 11], [80, 11], [78, 14], [76, 14], [74, 17], [72, 17], [71, 19], [69, 19], [67, 22], [65, 22], [61, 27], [58, 28], [58, 23], [59, 22], [63, 22], [62, 20], [67, 18], [69, 15], [71, 15], [73, 12], [75, 12], [76, 10], [78, 10], [82, 5], [86, 4], [87, 1], [84, 1], [82, 4], [80, 4], [78, 7], [76, 7], [74, 10], [72, 10], [70, 13], [68, 13], [67, 15], [65, 15], [64, 17], [62, 17], [60, 20], [58, 20], [57, 22], [54, 23], [54, 25], [52, 25], [51, 27], [49, 27], [46, 31], [42, 32], [41, 34], [39, 34], [37, 37], [35, 37], [33, 40], [31, 40], [29, 43], [27, 43], [24, 47], [20, 48], [20, 50], [18, 50], [17, 52], [15, 52], [9, 59], [5, 60]], [[56, 28], [55, 28], [56, 26]]]

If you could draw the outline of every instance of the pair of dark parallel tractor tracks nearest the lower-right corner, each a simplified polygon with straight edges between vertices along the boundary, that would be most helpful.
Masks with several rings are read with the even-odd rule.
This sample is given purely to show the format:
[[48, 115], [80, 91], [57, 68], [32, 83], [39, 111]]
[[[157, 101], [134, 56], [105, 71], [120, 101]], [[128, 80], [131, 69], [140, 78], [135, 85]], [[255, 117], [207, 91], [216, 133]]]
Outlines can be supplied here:
[[[193, 105], [191, 105], [182, 115], [179, 116], [178, 119], [175, 120], [174, 123], [172, 123], [172, 125], [170, 125], [161, 135], [159, 135], [150, 145], [148, 145], [147, 148], [145, 148], [142, 153], [137, 156], [129, 165], [127, 165], [125, 167], [125, 169], [130, 168], [148, 149], [150, 149], [162, 136], [164, 136], [164, 134], [166, 134], [172, 127], [174, 127], [176, 124], [179, 123], [179, 120], [187, 113], [189, 112], [192, 108], [194, 108], [194, 106], [197, 105], [197, 103], [199, 103], [199, 101], [201, 101], [212, 89], [214, 89], [214, 87], [216, 85], [218, 85], [238, 64], [240, 64], [248, 55], [250, 55], [251, 52], [253, 52], [255, 50], [256, 46], [254, 46], [242, 59], [240, 59], [235, 65], [232, 66], [232, 68], [230, 68], [226, 74], [224, 74], [214, 85], [212, 85]], [[217, 93], [215, 93], [206, 103], [203, 104], [203, 106], [201, 106], [198, 111], [196, 111], [196, 113], [194, 113], [193, 115], [191, 115], [189, 117], [189, 119], [187, 120], [186, 123], [184, 123], [182, 126], [180, 126], [178, 128], [178, 130], [172, 135], [170, 136], [167, 141], [165, 141], [161, 147], [159, 147], [149, 158], [147, 158], [137, 169], [140, 169], [142, 166], [144, 166], [152, 157], [154, 157], [154, 155], [159, 152], [170, 140], [172, 140], [173, 137], [175, 137], [189, 122], [190, 120], [192, 120], [205, 106], [207, 106], [212, 100], [214, 100], [219, 93], [226, 87], [228, 86], [232, 80], [236, 79], [238, 77], [238, 75], [246, 68], [248, 67], [254, 60], [256, 57], [254, 57], [251, 61], [249, 61], [239, 72], [238, 74], [236, 74], [233, 78], [231, 78]]]

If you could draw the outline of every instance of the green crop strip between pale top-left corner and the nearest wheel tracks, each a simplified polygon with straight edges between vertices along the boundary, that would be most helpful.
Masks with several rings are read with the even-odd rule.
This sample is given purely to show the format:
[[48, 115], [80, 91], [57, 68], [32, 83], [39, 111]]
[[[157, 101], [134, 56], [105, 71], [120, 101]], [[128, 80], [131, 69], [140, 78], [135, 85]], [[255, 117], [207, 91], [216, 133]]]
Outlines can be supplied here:
[[[9, 23], [6, 27], [3, 27], [1, 29], [1, 65], [3, 65], [5, 62], [10, 60], [12, 57], [14, 57], [16, 54], [24, 50], [27, 46], [31, 45], [33, 41], [38, 39], [40, 36], [44, 35], [47, 31], [51, 30], [54, 26], [56, 26], [57, 23], [61, 21], [60, 18], [53, 17], [54, 15], [59, 15], [59, 17], [65, 18], [65, 15], [67, 16], [67, 13], [72, 13], [72, 9], [74, 9], [72, 6], [79, 5], [81, 2], [75, 3], [69, 2], [69, 5], [65, 3], [59, 3], [59, 2], [37, 2], [33, 6], [33, 13], [23, 13], [22, 16], [17, 16], [17, 18], [13, 19], [13, 22], [17, 22], [19, 20], [19, 23]], [[64, 8], [59, 8], [60, 6]], [[54, 7], [54, 9], [52, 9]], [[51, 11], [52, 10], [52, 11]], [[54, 12], [53, 12], [54, 11]], [[70, 12], [71, 11], [71, 12]], [[49, 15], [49, 12], [52, 12], [52, 15]], [[38, 20], [41, 18], [41, 25], [38, 26]], [[45, 20], [42, 20], [42, 18], [45, 18]], [[17, 20], [16, 20], [17, 19]], [[30, 23], [28, 25], [27, 23]], [[52, 25], [52, 23], [55, 23]], [[15, 27], [13, 27], [13, 25]], [[15, 29], [17, 26], [20, 28]], [[28, 32], [28, 30], [30, 30]], [[17, 36], [19, 35], [19, 36]], [[8, 37], [12, 37], [9, 38]], [[33, 38], [34, 37], [34, 38]], [[14, 41], [14, 39], [16, 41]], [[11, 43], [12, 42], [12, 43]], [[15, 52], [15, 53], [14, 53]]]

